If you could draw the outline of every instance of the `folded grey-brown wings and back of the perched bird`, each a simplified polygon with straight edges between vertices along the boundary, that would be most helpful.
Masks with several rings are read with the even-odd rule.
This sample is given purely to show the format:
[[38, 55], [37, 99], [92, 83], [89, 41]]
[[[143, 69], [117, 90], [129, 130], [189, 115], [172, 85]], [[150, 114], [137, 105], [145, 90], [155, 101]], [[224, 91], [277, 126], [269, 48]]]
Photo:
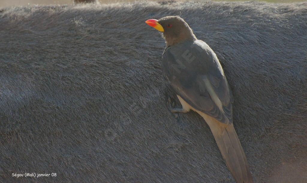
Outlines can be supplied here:
[[196, 110], [232, 123], [232, 94], [216, 54], [203, 41], [165, 49], [163, 73], [175, 92]]

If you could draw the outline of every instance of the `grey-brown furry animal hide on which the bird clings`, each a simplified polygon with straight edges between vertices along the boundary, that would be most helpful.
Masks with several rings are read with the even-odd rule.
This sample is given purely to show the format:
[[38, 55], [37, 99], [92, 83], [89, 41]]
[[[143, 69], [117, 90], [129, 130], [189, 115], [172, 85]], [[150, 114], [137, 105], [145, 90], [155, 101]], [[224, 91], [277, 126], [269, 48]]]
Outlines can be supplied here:
[[[177, 120], [165, 105], [173, 95], [161, 71], [165, 43], [145, 21], [169, 15], [184, 18], [217, 54], [254, 181], [306, 180], [306, 7], [1, 9], [0, 181], [234, 182], [204, 120], [195, 112]], [[26, 172], [57, 176], [12, 177]]]

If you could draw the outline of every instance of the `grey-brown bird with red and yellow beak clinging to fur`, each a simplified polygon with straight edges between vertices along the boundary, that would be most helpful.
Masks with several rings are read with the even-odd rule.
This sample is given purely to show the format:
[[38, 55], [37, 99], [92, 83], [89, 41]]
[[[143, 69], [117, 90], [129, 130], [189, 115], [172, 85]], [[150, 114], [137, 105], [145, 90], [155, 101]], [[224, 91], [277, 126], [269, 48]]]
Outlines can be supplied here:
[[225, 163], [237, 183], [253, 182], [249, 164], [233, 126], [231, 88], [216, 53], [194, 35], [180, 16], [146, 20], [162, 33], [165, 50], [162, 70], [175, 91], [182, 108], [171, 112], [193, 110], [210, 127]]

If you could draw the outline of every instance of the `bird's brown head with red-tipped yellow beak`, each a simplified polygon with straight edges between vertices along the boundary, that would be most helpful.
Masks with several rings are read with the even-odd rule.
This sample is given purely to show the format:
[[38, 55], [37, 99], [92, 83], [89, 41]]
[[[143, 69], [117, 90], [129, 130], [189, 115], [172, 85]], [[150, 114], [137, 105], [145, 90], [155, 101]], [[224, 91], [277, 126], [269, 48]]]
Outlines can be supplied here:
[[146, 20], [146, 23], [163, 32], [166, 46], [197, 39], [192, 29], [180, 16], [165, 16], [159, 20], [150, 19]]

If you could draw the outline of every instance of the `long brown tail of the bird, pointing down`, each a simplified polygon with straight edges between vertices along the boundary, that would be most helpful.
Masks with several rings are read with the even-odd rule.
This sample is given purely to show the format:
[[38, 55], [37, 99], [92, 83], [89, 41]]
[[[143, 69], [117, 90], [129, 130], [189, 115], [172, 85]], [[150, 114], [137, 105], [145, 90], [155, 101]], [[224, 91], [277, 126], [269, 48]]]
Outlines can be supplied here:
[[226, 165], [237, 183], [252, 183], [249, 165], [233, 124], [224, 125], [202, 114], [216, 140]]

